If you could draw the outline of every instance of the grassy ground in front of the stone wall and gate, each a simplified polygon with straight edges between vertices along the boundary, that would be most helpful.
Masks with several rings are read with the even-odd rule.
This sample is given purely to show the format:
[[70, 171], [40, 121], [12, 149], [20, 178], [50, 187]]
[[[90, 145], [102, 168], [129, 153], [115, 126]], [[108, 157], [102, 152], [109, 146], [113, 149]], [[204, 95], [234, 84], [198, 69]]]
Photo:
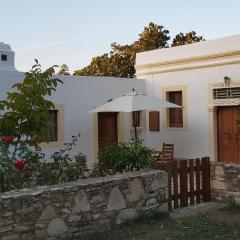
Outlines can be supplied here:
[[[220, 211], [220, 210], [219, 210]], [[228, 205], [221, 209], [223, 215], [240, 217], [239, 205]], [[219, 212], [218, 212], [219, 213]], [[220, 212], [221, 213], [221, 212]], [[215, 215], [200, 214], [192, 217], [172, 219], [167, 213], [141, 214], [137, 219], [116, 226], [108, 233], [80, 238], [84, 240], [238, 240], [240, 221], [228, 222]]]

